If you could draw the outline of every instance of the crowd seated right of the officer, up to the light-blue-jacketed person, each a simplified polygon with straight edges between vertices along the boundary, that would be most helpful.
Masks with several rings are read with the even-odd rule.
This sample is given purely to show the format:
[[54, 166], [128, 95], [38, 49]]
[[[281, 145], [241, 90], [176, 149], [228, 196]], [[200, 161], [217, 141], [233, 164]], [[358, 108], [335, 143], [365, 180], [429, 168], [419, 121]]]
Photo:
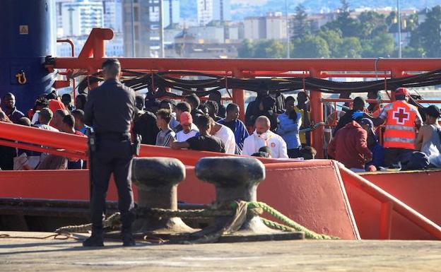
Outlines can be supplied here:
[[315, 155], [313, 148], [305, 147], [303, 151], [300, 148], [301, 120], [300, 115], [292, 114], [293, 97], [288, 98], [290, 107], [286, 114], [280, 116], [290, 122], [278, 122], [276, 118], [277, 133], [271, 131], [271, 119], [264, 114], [254, 119], [249, 130], [239, 119], [240, 107], [235, 103], [224, 107], [218, 91], [211, 92], [206, 102], [201, 102], [195, 94], [185, 96], [177, 104], [167, 99], [145, 100], [141, 95], [136, 101], [139, 112], [134, 120], [134, 133], [140, 134], [145, 144], [264, 158]]

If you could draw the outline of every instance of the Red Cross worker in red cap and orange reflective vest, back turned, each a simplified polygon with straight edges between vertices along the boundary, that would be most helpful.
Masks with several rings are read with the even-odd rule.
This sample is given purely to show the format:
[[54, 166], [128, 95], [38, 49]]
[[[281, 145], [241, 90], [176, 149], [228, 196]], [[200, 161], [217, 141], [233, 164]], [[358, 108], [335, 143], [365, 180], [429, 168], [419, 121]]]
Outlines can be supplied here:
[[401, 159], [415, 150], [415, 127], [421, 126], [418, 109], [407, 102], [408, 90], [395, 90], [394, 102], [386, 105], [380, 115], [373, 119], [375, 126], [384, 124], [384, 166], [399, 167]]

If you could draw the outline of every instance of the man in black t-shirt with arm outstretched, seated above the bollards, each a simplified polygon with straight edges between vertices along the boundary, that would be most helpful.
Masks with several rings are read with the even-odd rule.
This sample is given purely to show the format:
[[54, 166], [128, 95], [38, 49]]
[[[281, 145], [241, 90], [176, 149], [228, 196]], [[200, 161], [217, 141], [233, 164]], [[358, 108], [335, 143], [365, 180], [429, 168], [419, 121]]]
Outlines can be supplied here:
[[[188, 113], [188, 112], [187, 112]], [[188, 118], [188, 117], [187, 117]], [[182, 116], [181, 116], [182, 122]], [[211, 118], [206, 115], [199, 117], [199, 136], [194, 136], [187, 141], [175, 141], [171, 144], [173, 149], [189, 148], [192, 150], [211, 151], [225, 153], [225, 145], [222, 140], [216, 136], [211, 136]]]

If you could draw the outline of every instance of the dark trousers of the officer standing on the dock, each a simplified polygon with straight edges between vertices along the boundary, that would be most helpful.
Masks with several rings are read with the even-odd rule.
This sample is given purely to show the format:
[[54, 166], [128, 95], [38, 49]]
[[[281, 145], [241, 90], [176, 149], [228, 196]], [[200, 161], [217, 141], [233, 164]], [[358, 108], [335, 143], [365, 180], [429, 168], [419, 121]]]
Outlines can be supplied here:
[[93, 154], [92, 171], [92, 213], [93, 230], [102, 231], [102, 220], [105, 217], [105, 197], [109, 187], [110, 175], [113, 173], [118, 189], [118, 208], [121, 213], [122, 231], [129, 231], [135, 219], [134, 197], [131, 190], [130, 141], [102, 140]]

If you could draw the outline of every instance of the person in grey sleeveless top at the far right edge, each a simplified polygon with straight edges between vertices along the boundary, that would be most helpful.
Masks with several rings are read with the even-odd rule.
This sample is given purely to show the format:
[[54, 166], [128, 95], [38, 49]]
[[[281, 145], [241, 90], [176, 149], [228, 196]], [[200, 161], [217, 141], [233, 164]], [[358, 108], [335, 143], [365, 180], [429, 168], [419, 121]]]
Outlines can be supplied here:
[[425, 108], [424, 112], [425, 125], [421, 126], [415, 146], [417, 150], [428, 155], [431, 165], [441, 167], [441, 126], [438, 124], [440, 109], [435, 105], [430, 105]]

